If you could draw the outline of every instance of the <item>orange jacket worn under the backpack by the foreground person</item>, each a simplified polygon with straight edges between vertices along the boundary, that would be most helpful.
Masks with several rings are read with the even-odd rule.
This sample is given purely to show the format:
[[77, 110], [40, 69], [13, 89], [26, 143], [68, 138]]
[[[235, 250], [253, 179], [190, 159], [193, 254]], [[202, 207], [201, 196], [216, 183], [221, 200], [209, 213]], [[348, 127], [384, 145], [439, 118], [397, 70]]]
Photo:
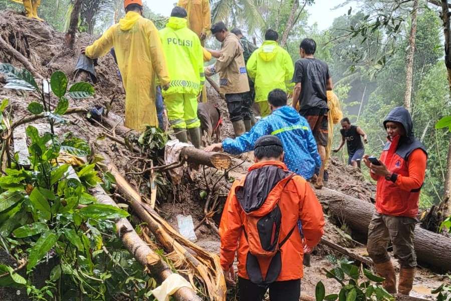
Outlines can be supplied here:
[[[282, 162], [266, 161], [253, 165], [249, 172], [269, 165], [287, 171], [286, 165]], [[219, 235], [221, 237], [220, 264], [224, 270], [230, 269], [238, 251], [238, 275], [249, 279], [246, 271], [246, 257], [249, 245], [243, 230], [247, 217], [236, 195], [236, 192], [244, 187], [245, 179], [235, 181], [222, 212], [219, 226]], [[274, 190], [279, 189], [280, 193], [268, 195], [264, 206], [271, 206], [271, 204], [276, 203], [276, 199], [280, 198], [278, 203], [282, 212], [280, 237], [282, 239], [287, 237], [293, 226], [297, 224], [298, 220], [301, 220], [306, 244], [314, 247], [323, 235], [324, 216], [322, 207], [310, 185], [302, 177], [295, 176], [288, 181], [287, 179], [285, 179], [287, 183], [284, 183], [284, 180], [282, 180], [274, 188]], [[265, 181], [261, 181], [261, 185], [265, 185], [265, 183]], [[304, 253], [299, 231], [295, 230], [288, 238], [281, 248], [281, 255], [282, 271], [277, 281], [302, 278], [304, 275]], [[262, 270], [268, 270], [270, 260], [271, 258], [259, 260]]]

